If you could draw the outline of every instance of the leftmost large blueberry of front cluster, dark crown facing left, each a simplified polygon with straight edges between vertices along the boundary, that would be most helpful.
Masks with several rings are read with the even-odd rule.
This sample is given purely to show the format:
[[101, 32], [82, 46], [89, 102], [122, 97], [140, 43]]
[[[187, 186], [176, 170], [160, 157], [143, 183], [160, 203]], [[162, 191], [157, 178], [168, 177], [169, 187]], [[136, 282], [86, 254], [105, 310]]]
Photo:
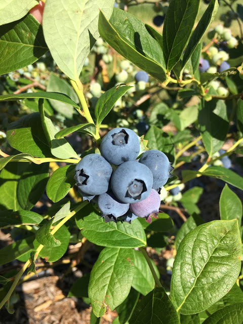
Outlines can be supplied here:
[[97, 195], [108, 190], [112, 168], [103, 156], [86, 155], [76, 165], [75, 172], [74, 179], [82, 192]]

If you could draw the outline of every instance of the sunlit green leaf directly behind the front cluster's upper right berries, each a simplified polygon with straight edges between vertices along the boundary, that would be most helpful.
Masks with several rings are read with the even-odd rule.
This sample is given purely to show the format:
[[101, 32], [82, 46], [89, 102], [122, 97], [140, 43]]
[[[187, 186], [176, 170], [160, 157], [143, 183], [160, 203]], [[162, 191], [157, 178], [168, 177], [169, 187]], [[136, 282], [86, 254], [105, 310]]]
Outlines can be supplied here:
[[167, 133], [163, 132], [156, 126], [151, 126], [144, 139], [148, 140], [150, 150], [159, 150], [164, 152], [171, 162], [174, 160], [175, 145]]

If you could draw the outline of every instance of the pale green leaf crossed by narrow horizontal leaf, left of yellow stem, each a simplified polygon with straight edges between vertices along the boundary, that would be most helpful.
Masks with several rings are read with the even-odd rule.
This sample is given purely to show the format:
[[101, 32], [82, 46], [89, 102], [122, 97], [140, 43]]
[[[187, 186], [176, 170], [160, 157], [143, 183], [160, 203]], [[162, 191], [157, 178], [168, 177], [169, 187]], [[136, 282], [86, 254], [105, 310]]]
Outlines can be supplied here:
[[[72, 99], [75, 103], [78, 103], [78, 97], [73, 90], [73, 88], [69, 85], [67, 80], [61, 79], [58, 75], [55, 73], [51, 73], [48, 85], [47, 85], [47, 91], [51, 92], [58, 92], [67, 95], [69, 98]], [[61, 113], [63, 116], [67, 118], [72, 118], [73, 114], [75, 113], [74, 109], [70, 107], [68, 104], [62, 102], [57, 102], [54, 100], [50, 101], [52, 107], [59, 113]], [[79, 109], [79, 108], [78, 108]]]

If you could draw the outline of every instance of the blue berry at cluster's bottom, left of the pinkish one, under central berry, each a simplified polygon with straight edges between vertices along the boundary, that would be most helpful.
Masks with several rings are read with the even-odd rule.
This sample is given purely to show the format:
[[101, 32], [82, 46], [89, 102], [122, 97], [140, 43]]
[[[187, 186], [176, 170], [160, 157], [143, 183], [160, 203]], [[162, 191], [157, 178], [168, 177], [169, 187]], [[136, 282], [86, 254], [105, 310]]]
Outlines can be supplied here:
[[98, 208], [103, 214], [106, 223], [112, 220], [116, 223], [117, 217], [127, 213], [129, 204], [121, 203], [113, 192], [106, 192], [99, 195]]

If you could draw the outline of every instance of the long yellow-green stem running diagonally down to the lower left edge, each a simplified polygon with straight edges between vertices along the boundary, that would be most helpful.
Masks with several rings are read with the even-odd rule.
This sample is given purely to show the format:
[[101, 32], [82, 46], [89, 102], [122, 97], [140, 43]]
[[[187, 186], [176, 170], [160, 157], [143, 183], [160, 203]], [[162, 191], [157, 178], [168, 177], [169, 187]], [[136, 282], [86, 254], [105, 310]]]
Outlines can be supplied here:
[[[77, 212], [79, 212], [82, 208], [84, 208], [86, 205], [88, 204], [88, 200], [86, 200], [86, 201], [84, 201], [82, 204], [79, 204], [79, 206], [77, 206], [72, 212], [70, 212], [70, 214], [68, 214], [66, 217], [64, 217], [54, 228], [53, 228], [53, 230], [51, 231], [51, 234], [53, 235], [53, 234], [55, 234], [58, 230], [59, 230], [59, 228], [60, 227], [62, 227], [62, 225], [63, 224], [65, 224], [72, 216], [74, 216]], [[38, 257], [38, 254], [39, 254], [39, 252], [41, 252], [42, 251], [42, 249], [43, 249], [43, 245], [42, 244], [40, 244], [39, 246], [38, 246], [38, 248], [36, 249], [36, 253], [35, 253], [35, 256], [34, 256], [34, 260], [36, 260], [37, 259], [37, 257]], [[11, 288], [10, 288], [10, 290], [8, 291], [8, 293], [7, 293], [7, 295], [4, 297], [4, 299], [1, 301], [1, 303], [0, 303], [0, 309], [4, 306], [4, 304], [6, 303], [6, 302], [8, 302], [9, 301], [9, 299], [10, 299], [10, 297], [11, 297], [11, 295], [13, 294], [13, 292], [14, 292], [14, 289], [15, 289], [15, 287], [18, 285], [18, 282], [19, 282], [19, 280], [20, 280], [20, 278], [21, 278], [21, 276], [23, 275], [23, 273], [24, 273], [24, 271], [30, 266], [30, 264], [31, 264], [31, 262], [32, 262], [32, 260], [31, 260], [31, 258], [29, 258], [29, 260], [27, 261], [27, 262], [25, 262], [25, 264], [23, 265], [23, 267], [19, 270], [19, 272], [16, 274], [16, 276], [15, 276], [15, 279], [14, 279], [14, 281], [13, 281], [13, 284], [12, 284], [12, 286], [11, 286]]]

